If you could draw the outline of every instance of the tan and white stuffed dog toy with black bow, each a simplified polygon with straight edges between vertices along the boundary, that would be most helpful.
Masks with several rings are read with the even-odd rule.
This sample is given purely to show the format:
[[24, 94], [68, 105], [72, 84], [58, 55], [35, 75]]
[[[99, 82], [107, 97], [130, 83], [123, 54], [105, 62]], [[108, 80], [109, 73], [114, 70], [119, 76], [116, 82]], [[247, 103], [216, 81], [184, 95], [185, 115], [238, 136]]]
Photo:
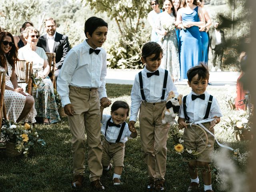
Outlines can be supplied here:
[[168, 94], [166, 107], [162, 113], [162, 124], [170, 123], [174, 125], [174, 119], [180, 110], [182, 95], [175, 95], [173, 91]]

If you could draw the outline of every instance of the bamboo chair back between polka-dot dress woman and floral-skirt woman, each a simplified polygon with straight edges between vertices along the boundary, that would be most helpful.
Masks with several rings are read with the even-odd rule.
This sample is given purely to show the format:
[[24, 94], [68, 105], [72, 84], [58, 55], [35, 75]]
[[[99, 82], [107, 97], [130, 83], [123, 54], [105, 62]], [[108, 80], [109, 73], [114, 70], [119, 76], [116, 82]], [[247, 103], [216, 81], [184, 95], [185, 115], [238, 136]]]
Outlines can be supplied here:
[[32, 94], [32, 66], [33, 62], [19, 60], [15, 63], [15, 74], [17, 77], [18, 86], [28, 84], [26, 92]]

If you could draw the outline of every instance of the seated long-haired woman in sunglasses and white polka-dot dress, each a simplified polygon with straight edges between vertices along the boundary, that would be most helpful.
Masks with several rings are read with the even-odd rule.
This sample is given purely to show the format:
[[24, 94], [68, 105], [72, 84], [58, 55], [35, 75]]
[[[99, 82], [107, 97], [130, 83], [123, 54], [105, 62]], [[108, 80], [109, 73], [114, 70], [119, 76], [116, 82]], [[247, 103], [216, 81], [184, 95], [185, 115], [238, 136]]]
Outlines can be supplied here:
[[6, 71], [4, 103], [6, 115], [13, 122], [35, 123], [36, 109], [34, 98], [18, 88], [14, 73], [15, 62], [18, 60], [14, 38], [9, 32], [0, 32], [0, 70]]

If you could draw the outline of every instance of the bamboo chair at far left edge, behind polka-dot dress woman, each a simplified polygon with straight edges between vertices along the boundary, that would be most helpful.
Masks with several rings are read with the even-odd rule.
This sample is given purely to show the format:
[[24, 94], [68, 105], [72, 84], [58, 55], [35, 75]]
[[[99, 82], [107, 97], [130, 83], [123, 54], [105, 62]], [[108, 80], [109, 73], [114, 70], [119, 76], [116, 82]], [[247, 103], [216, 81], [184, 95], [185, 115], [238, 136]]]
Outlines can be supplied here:
[[7, 116], [6, 116], [6, 109], [4, 106], [4, 90], [5, 90], [5, 76], [6, 76], [6, 72], [5, 71], [0, 71], [0, 133], [1, 133], [1, 129], [2, 129], [2, 115], [4, 116], [4, 119], [7, 120]]

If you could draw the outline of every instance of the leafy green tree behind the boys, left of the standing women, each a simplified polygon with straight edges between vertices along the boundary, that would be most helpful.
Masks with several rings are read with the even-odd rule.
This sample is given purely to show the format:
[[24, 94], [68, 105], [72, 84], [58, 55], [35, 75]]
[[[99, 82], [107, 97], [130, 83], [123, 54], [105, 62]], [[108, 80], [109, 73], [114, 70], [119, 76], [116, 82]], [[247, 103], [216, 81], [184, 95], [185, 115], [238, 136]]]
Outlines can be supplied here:
[[95, 12], [106, 12], [116, 22], [119, 32], [108, 49], [110, 67], [141, 68], [140, 52], [142, 45], [150, 40], [149, 30], [145, 29], [144, 18], [150, 11], [150, 3], [145, 0], [82, 0]]

